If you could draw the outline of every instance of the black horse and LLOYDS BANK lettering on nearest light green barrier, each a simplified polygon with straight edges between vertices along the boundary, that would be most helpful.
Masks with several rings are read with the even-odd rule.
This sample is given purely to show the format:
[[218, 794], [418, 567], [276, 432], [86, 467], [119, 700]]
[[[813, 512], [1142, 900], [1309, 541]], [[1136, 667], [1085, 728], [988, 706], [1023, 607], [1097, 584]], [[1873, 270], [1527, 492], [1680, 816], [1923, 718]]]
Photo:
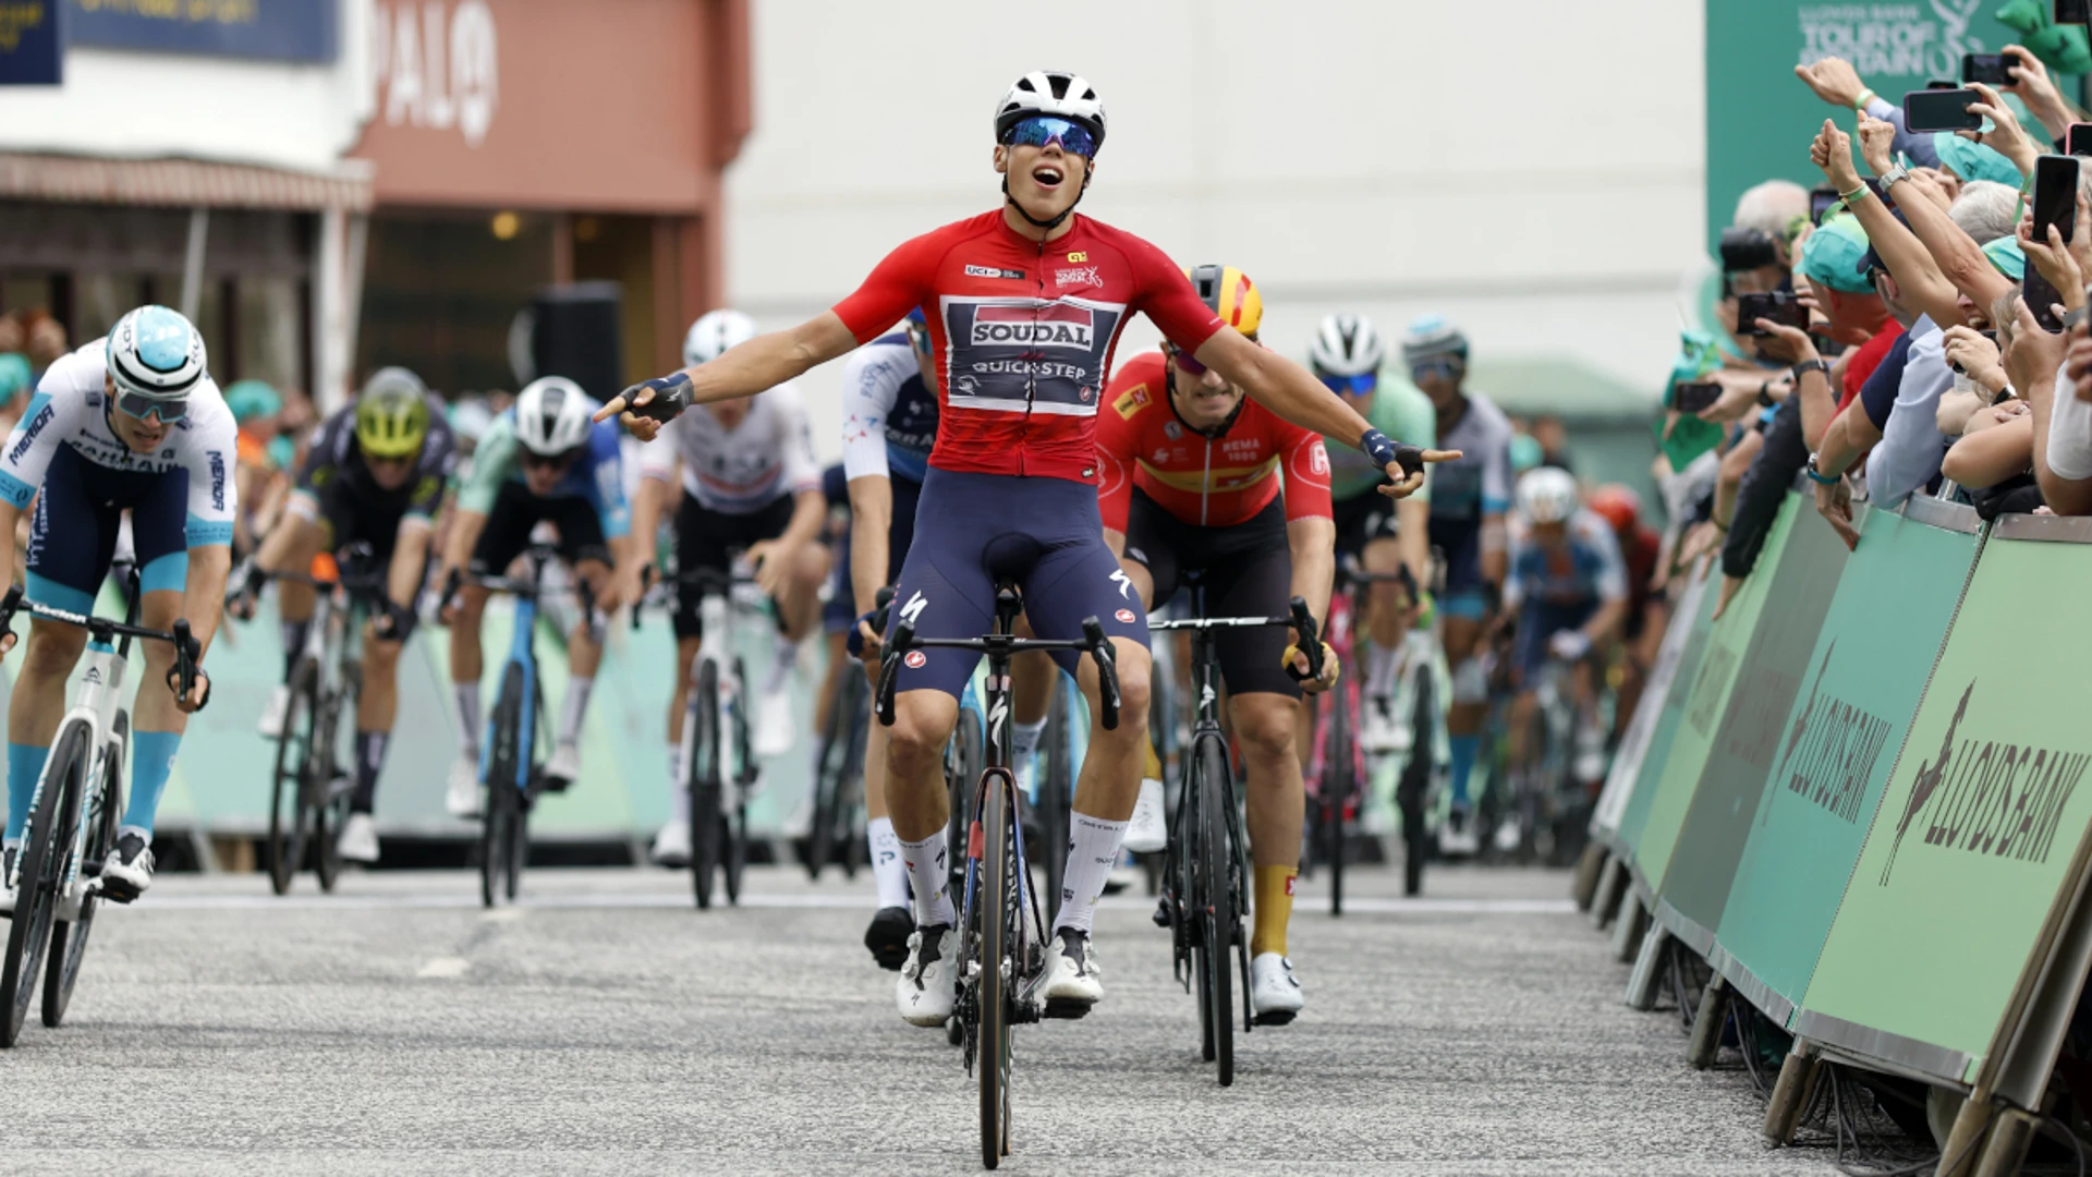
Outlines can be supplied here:
[[2056, 748], [2004, 743], [1971, 735], [1954, 741], [1975, 681], [1962, 691], [1939, 754], [1916, 767], [1904, 815], [1895, 821], [1881, 886], [1889, 886], [1895, 852], [1918, 813], [1929, 813], [1925, 844], [2019, 863], [2046, 863], [2056, 842], [2063, 808], [2092, 756]]

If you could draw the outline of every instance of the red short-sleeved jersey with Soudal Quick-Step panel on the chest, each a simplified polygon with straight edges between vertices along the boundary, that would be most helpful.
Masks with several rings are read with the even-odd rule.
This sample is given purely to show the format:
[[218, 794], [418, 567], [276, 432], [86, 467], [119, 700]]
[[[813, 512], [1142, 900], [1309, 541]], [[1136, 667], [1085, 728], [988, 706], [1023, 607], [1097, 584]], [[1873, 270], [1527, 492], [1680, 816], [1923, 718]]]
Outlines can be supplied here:
[[835, 304], [858, 343], [923, 308], [943, 404], [931, 467], [1096, 482], [1096, 406], [1128, 316], [1186, 352], [1220, 331], [1161, 249], [1086, 216], [1071, 224], [1044, 243], [1002, 209], [948, 224]]

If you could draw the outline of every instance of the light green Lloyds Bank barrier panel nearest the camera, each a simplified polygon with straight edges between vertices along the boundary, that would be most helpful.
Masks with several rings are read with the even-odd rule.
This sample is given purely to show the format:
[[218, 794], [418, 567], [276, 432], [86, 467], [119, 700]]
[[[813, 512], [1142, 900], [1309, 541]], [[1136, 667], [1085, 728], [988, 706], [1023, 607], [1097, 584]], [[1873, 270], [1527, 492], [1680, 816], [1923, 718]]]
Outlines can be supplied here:
[[1795, 1032], [1956, 1083], [1996, 1049], [2092, 821], [2088, 593], [2092, 545], [1983, 545]]

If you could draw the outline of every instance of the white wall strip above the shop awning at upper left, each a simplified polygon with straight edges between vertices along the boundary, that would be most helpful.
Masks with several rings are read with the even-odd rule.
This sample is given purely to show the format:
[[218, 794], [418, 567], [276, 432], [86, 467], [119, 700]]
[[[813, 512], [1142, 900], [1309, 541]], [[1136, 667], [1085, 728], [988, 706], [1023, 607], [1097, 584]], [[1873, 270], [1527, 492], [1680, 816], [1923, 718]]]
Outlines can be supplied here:
[[0, 90], [0, 151], [328, 170], [370, 113], [370, 2], [339, 2], [324, 65], [69, 48], [65, 86]]

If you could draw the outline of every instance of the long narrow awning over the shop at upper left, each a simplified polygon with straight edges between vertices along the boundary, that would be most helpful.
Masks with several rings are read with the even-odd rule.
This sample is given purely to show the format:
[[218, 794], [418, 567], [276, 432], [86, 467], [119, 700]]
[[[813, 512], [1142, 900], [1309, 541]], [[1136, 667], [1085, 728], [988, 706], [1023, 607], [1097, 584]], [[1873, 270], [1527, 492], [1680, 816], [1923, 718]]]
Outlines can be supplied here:
[[0, 199], [100, 205], [368, 212], [372, 168], [289, 172], [201, 159], [96, 159], [0, 151]]

